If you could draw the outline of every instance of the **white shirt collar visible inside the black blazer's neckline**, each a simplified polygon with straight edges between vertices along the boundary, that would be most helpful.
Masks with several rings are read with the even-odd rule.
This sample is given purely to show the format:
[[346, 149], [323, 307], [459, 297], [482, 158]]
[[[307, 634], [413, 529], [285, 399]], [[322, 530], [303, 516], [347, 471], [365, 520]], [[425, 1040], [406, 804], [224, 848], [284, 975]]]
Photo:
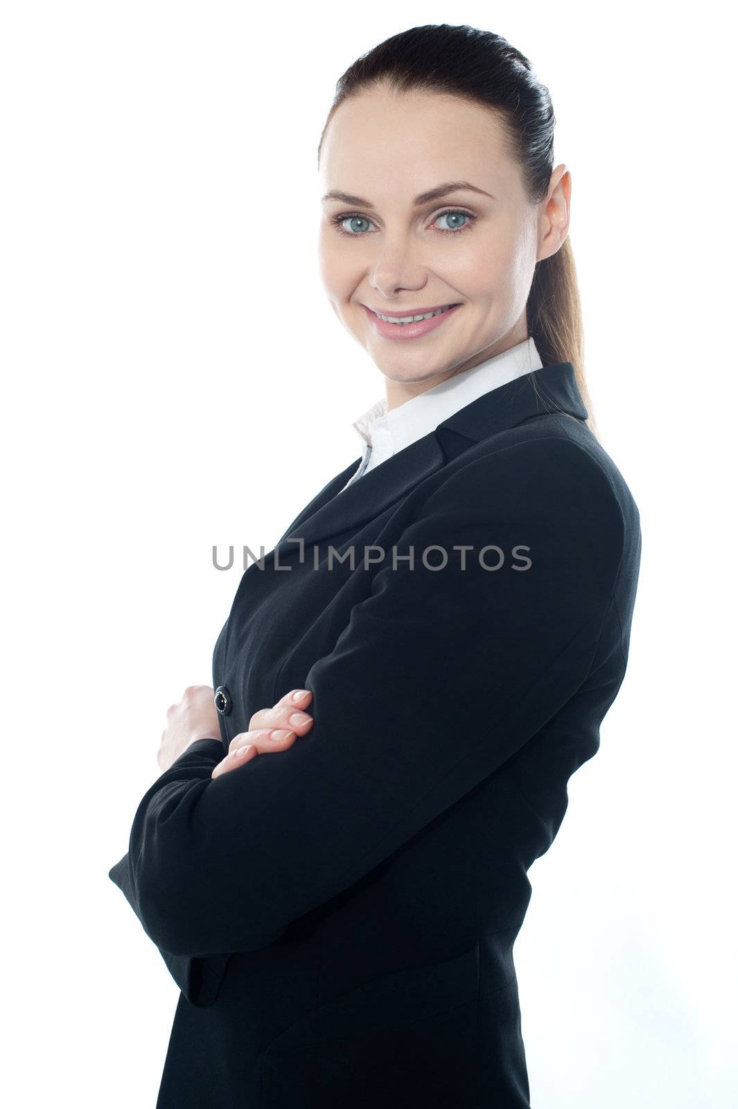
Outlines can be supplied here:
[[523, 374], [530, 374], [531, 370], [541, 369], [542, 366], [531, 335], [509, 350], [455, 374], [389, 411], [387, 399], [378, 400], [352, 424], [361, 439], [361, 462], [344, 489], [387, 461], [398, 450], [434, 431], [444, 419], [449, 419], [484, 393], [513, 381]]

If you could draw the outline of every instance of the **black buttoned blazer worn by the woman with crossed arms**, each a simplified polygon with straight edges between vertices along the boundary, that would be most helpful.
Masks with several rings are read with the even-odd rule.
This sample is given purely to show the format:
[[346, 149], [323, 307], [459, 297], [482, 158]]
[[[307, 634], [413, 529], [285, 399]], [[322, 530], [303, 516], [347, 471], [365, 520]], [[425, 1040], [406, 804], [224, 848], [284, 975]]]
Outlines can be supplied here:
[[[243, 574], [221, 739], [110, 871], [182, 990], [157, 1109], [529, 1106], [526, 871], [623, 681], [640, 553], [585, 418], [544, 366], [344, 489], [355, 459]], [[307, 735], [213, 780], [298, 688]]]

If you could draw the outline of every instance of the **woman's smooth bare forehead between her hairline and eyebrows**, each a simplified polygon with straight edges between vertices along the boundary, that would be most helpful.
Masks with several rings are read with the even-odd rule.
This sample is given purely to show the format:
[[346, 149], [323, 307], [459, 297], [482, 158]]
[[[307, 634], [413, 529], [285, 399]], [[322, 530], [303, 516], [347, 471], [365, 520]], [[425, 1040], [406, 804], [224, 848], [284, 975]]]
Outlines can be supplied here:
[[[320, 152], [325, 191], [369, 195], [391, 186], [414, 195], [464, 179], [494, 193], [515, 184], [500, 116], [440, 93], [371, 90], [344, 101]], [[372, 193], [372, 196], [375, 195]]]

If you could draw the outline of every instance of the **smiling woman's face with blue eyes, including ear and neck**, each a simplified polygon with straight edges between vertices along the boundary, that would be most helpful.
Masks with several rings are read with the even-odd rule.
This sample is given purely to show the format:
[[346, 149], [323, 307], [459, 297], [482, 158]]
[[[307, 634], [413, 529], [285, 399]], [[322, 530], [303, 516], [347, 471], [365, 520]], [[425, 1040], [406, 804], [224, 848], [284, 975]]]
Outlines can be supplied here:
[[[452, 95], [375, 90], [330, 121], [320, 181], [320, 277], [387, 378], [390, 407], [527, 337], [535, 263], [566, 235], [565, 166], [532, 205], [493, 112]], [[458, 307], [430, 328], [375, 315], [447, 305]]]

